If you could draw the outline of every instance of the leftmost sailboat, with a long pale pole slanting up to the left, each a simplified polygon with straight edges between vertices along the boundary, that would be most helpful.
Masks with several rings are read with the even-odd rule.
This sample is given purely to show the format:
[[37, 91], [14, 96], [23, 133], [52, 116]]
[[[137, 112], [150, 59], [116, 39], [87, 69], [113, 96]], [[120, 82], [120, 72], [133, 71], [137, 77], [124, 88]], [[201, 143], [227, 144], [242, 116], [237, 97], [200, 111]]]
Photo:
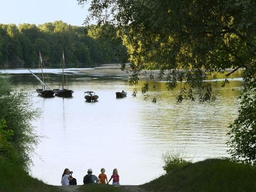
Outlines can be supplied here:
[[32, 73], [31, 70], [30, 73], [33, 74], [37, 80], [42, 84], [42, 89], [36, 89], [36, 92], [38, 93], [38, 95], [40, 95], [41, 97], [44, 97], [44, 98], [52, 98], [54, 97], [54, 92], [53, 90], [50, 89], [49, 86], [47, 86], [45, 83], [44, 83], [44, 73], [43, 73], [43, 66], [44, 66], [44, 63], [43, 63], [43, 59], [42, 59], [42, 55], [41, 55], [41, 52], [39, 51], [39, 68], [41, 68], [41, 73], [42, 73], [42, 80], [36, 76], [34, 73]]

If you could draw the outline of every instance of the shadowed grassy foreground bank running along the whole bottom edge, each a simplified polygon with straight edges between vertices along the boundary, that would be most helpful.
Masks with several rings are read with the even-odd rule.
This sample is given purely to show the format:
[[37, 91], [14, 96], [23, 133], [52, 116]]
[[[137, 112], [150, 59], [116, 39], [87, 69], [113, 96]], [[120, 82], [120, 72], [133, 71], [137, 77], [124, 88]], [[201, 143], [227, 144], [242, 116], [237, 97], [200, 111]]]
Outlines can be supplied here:
[[174, 169], [141, 186], [50, 186], [31, 178], [19, 167], [0, 157], [0, 191], [94, 191], [94, 192], [145, 192], [145, 191], [255, 191], [255, 167], [223, 159], [206, 159]]

